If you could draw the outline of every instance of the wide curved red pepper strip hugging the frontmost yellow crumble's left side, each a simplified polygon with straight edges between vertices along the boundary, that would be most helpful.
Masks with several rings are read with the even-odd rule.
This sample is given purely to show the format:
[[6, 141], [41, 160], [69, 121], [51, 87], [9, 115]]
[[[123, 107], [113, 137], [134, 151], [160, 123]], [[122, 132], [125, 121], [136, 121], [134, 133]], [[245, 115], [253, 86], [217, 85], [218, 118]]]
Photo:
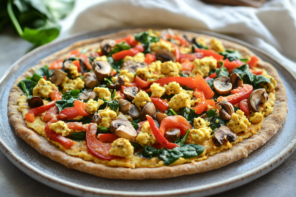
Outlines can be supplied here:
[[96, 126], [95, 123], [89, 123], [89, 126], [86, 130], [86, 146], [89, 149], [89, 152], [99, 159], [112, 160], [119, 159], [122, 157], [110, 155], [109, 151], [111, 145], [108, 143], [103, 143], [96, 139]]

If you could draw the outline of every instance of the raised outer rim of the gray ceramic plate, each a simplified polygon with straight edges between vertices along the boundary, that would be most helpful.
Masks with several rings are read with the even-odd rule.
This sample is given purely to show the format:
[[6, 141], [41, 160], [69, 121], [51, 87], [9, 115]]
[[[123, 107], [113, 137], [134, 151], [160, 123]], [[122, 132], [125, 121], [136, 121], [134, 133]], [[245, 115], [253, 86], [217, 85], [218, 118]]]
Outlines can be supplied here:
[[[137, 28], [137, 27], [133, 27]], [[63, 39], [53, 41], [51, 43], [47, 43], [45, 45], [42, 45], [29, 53], [25, 54], [22, 58], [17, 60], [14, 64], [12, 64], [5, 72], [2, 74], [0, 77], [0, 85], [3, 82], [4, 78], [9, 74], [9, 72], [12, 71], [13, 67], [16, 66], [17, 64], [21, 64], [23, 60], [26, 58], [29, 58], [32, 56], [34, 53], [37, 53], [38, 50], [44, 49], [47, 47], [50, 47], [52, 45], [58, 44], [59, 42], [65, 41], [65, 40], [70, 40], [76, 37], [80, 37], [85, 34], [89, 33], [94, 33], [94, 32], [101, 32], [102, 35], [111, 33], [111, 32], [117, 32], [119, 30], [124, 30], [124, 29], [130, 29], [130, 28], [115, 28], [115, 29], [109, 29], [109, 30], [104, 30], [104, 31], [86, 31], [86, 32], [79, 32], [75, 33], [73, 35], [67, 36]], [[238, 40], [236, 38], [232, 38], [227, 35], [222, 35], [216, 32], [210, 32], [210, 31], [205, 31], [205, 30], [198, 30], [198, 29], [186, 29], [185, 31], [191, 31], [191, 32], [196, 32], [196, 33], [202, 33], [206, 35], [212, 35], [218, 38], [222, 38], [225, 40], [229, 40], [234, 43], [238, 43], [240, 45], [246, 46], [249, 49], [252, 49], [253, 51], [258, 51], [260, 53], [263, 53], [265, 56], [268, 56], [269, 58], [273, 59], [276, 61], [279, 65], [282, 66], [283, 69], [288, 71], [292, 78], [296, 81], [296, 75], [292, 72], [291, 69], [289, 69], [287, 66], [281, 64], [281, 62], [271, 55], [270, 53], [255, 47], [249, 43], [246, 43], [242, 40]], [[179, 196], [182, 194], [187, 194], [187, 195], [194, 195], [194, 193], [199, 193], [199, 196], [204, 196], [204, 195], [210, 195], [210, 194], [215, 194], [215, 193], [220, 193], [223, 191], [230, 190], [235, 187], [239, 187], [243, 184], [246, 184], [252, 180], [255, 180], [256, 178], [259, 178], [260, 176], [265, 175], [267, 172], [270, 172], [277, 166], [279, 166], [284, 160], [286, 160], [296, 149], [296, 138], [293, 139], [292, 141], [287, 144], [287, 146], [282, 149], [281, 152], [279, 152], [276, 156], [271, 158], [269, 161], [263, 163], [262, 165], [254, 168], [253, 170], [249, 170], [243, 174], [233, 176], [231, 178], [218, 181], [215, 183], [210, 183], [207, 185], [200, 185], [192, 188], [185, 188], [185, 189], [177, 189], [177, 190], [169, 190], [169, 191], [157, 191], [157, 192], [131, 192], [131, 191], [114, 191], [114, 190], [106, 190], [106, 189], [100, 189], [100, 188], [93, 188], [93, 187], [88, 187], [84, 185], [80, 185], [77, 183], [73, 183], [67, 180], [63, 180], [61, 178], [54, 177], [52, 175], [46, 174], [45, 172], [42, 172], [41, 170], [37, 169], [36, 167], [30, 165], [27, 161], [19, 157], [10, 147], [9, 144], [4, 142], [4, 140], [0, 136], [0, 150], [4, 152], [6, 157], [14, 164], [16, 165], [20, 170], [25, 172], [27, 175], [30, 177], [34, 178], [35, 180], [47, 184], [48, 186], [57, 189], [62, 192], [66, 192], [69, 194], [73, 195], [79, 195], [79, 196]], [[128, 180], [127, 180], [128, 181]], [[70, 189], [70, 191], [69, 191]], [[209, 191], [211, 190], [211, 191]]]

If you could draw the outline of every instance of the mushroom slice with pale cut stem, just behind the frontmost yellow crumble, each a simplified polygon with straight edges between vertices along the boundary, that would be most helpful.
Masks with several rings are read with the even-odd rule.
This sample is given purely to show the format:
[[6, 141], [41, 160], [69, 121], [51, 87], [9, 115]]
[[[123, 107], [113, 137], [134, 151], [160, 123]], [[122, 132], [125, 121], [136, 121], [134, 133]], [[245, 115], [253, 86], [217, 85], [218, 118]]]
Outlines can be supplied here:
[[122, 137], [124, 139], [128, 139], [130, 142], [134, 142], [137, 137], [137, 131], [133, 128], [133, 125], [130, 121], [124, 119], [115, 119], [110, 123], [110, 131], [117, 135], [118, 137]]

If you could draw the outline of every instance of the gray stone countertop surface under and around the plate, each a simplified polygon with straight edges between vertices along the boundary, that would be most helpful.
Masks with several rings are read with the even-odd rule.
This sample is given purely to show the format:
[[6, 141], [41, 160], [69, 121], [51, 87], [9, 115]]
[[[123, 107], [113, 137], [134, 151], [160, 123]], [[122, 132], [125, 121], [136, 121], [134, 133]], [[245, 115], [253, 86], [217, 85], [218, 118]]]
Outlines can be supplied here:
[[[0, 75], [34, 46], [11, 30], [0, 34]], [[70, 197], [30, 178], [0, 151], [0, 197]], [[296, 196], [296, 152], [266, 175], [213, 197]]]

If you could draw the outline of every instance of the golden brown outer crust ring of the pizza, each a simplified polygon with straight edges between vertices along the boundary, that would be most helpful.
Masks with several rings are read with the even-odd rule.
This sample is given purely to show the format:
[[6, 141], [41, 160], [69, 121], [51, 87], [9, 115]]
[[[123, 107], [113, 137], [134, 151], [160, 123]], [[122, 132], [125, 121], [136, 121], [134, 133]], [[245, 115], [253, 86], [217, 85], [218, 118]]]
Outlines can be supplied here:
[[[13, 84], [8, 98], [8, 117], [10, 123], [15, 127], [15, 132], [18, 136], [24, 139], [30, 146], [36, 149], [40, 154], [49, 157], [50, 159], [65, 165], [68, 168], [87, 172], [96, 176], [104, 178], [119, 178], [119, 179], [148, 179], [148, 178], [169, 178], [181, 175], [194, 174], [198, 172], [206, 172], [209, 170], [217, 169], [235, 162], [239, 159], [245, 158], [255, 149], [265, 144], [283, 125], [287, 118], [287, 95], [283, 82], [279, 78], [276, 69], [271, 64], [260, 60], [258, 62], [260, 68], [264, 68], [269, 75], [273, 76], [277, 81], [276, 90], [276, 102], [274, 105], [274, 111], [264, 118], [260, 131], [258, 134], [253, 134], [248, 139], [244, 139], [242, 142], [234, 144], [231, 149], [224, 150], [221, 153], [210, 156], [208, 159], [192, 162], [188, 164], [176, 165], [176, 166], [163, 166], [157, 168], [124, 168], [124, 167], [106, 167], [102, 164], [95, 164], [93, 162], [85, 161], [78, 157], [67, 155], [65, 152], [60, 150], [57, 146], [47, 141], [46, 138], [28, 128], [25, 124], [22, 114], [17, 110], [17, 99], [23, 92], [17, 87], [17, 84], [25, 79], [27, 76], [33, 74], [33, 70], [36, 67], [44, 66], [52, 61], [61, 59], [62, 56], [67, 54], [69, 51], [81, 47], [102, 41], [105, 38], [119, 38], [124, 37], [131, 33], [141, 32], [143, 29], [136, 30], [124, 30], [118, 33], [110, 35], [100, 36], [98, 38], [91, 38], [88, 40], [82, 40], [70, 45], [69, 47], [58, 51], [51, 56], [44, 58], [41, 62], [26, 71], [20, 77], [18, 77]], [[184, 33], [184, 32], [181, 32]], [[197, 36], [195, 33], [186, 32], [186, 34]], [[213, 38], [211, 36], [203, 35], [205, 38]], [[221, 39], [220, 39], [221, 40]], [[223, 45], [226, 48], [235, 48], [240, 50], [244, 55], [254, 55], [247, 48], [231, 43], [226, 40], [222, 40]]]

